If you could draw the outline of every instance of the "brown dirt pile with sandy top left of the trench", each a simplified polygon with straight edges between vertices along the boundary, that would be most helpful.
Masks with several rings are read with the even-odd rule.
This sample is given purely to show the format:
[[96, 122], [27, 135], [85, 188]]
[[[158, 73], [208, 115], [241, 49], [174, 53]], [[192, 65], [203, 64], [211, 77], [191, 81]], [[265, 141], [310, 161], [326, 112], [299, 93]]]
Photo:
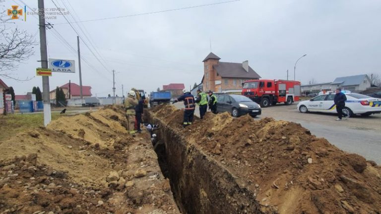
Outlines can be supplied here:
[[0, 143], [0, 213], [179, 213], [147, 133], [122, 108], [63, 116]]

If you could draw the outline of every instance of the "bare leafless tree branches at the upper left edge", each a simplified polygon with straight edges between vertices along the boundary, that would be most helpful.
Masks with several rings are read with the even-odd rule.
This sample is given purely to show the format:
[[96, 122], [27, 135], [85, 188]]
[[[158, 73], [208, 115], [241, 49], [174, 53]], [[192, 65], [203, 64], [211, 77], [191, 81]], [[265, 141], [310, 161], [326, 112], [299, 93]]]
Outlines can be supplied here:
[[18, 65], [34, 54], [34, 46], [37, 45], [35, 35], [9, 27], [15, 22], [6, 14], [6, 8], [0, 9], [0, 76], [19, 81], [30, 80], [28, 77], [19, 79], [15, 75]]

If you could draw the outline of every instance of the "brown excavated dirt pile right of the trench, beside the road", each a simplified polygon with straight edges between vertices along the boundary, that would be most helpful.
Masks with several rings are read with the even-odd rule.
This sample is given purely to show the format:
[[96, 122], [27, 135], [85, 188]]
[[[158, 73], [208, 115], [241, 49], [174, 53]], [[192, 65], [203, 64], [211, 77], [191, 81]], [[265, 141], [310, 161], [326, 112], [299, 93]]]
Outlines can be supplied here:
[[263, 212], [381, 213], [381, 167], [300, 124], [208, 112], [183, 129], [174, 118], [180, 110], [167, 106], [154, 113], [253, 190]]

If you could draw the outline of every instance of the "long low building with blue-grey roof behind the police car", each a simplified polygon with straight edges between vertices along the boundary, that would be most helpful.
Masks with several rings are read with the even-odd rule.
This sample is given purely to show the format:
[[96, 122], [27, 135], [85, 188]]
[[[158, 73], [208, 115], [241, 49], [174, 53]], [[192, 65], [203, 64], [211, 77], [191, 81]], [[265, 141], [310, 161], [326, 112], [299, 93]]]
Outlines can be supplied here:
[[355, 76], [337, 77], [333, 82], [315, 83], [302, 85], [302, 92], [305, 94], [318, 93], [320, 91], [334, 91], [336, 88], [349, 90], [351, 92], [361, 92], [371, 87], [371, 80], [368, 75], [361, 74]]

